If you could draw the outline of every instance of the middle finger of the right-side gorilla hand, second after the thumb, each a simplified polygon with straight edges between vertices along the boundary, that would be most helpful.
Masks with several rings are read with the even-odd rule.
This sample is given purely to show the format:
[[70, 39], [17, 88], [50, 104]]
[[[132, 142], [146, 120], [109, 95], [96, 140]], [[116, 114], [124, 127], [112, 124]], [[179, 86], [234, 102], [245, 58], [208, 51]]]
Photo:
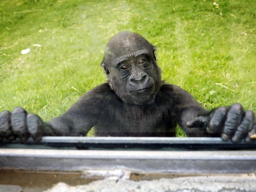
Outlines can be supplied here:
[[226, 114], [226, 121], [224, 124], [223, 133], [221, 134], [221, 138], [223, 140], [230, 139], [235, 133], [242, 120], [243, 114], [244, 111], [241, 104], [235, 103], [230, 107], [228, 113]]

